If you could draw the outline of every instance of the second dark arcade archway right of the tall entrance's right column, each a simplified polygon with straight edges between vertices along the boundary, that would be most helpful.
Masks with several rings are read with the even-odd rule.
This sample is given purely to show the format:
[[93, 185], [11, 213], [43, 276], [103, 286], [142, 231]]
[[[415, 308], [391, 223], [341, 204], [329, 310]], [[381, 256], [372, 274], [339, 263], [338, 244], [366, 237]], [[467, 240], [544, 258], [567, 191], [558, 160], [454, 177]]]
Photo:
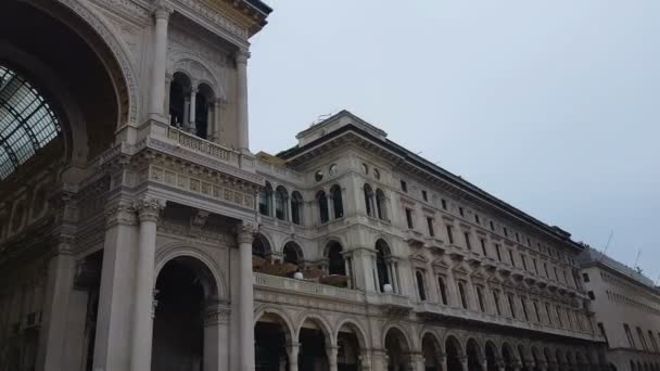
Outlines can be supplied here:
[[299, 330], [297, 341], [301, 345], [299, 353], [299, 370], [328, 371], [328, 347], [330, 332], [326, 324], [317, 318], [307, 318]]

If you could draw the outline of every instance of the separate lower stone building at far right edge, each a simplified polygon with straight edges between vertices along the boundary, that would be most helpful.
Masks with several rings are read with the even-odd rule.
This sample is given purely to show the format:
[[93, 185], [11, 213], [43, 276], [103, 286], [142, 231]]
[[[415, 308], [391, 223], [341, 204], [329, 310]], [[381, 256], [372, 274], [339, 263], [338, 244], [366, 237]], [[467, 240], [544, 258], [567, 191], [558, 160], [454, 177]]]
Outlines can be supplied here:
[[660, 290], [639, 271], [586, 247], [582, 281], [617, 370], [660, 369]]

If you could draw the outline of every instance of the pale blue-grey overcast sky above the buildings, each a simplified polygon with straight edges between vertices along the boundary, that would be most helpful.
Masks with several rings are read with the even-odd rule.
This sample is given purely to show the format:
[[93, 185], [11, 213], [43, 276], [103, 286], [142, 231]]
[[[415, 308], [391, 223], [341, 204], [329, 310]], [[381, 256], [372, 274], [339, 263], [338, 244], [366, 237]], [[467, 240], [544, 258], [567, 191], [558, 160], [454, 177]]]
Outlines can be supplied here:
[[660, 278], [660, 1], [266, 2], [253, 151], [345, 108]]

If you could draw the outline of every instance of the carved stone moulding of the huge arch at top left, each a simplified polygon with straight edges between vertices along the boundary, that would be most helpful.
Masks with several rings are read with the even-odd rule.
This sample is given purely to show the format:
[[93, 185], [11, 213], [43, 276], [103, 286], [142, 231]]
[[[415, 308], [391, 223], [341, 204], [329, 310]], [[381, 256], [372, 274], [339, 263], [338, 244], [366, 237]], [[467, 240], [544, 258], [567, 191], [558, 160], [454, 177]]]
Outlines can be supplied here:
[[[27, 2], [65, 23], [85, 39], [99, 55], [99, 59], [112, 77], [111, 80], [120, 112], [117, 127], [137, 124], [139, 119], [138, 76], [131, 63], [130, 52], [126, 43], [116, 36], [114, 28], [107, 24], [98, 11], [89, 5], [90, 2], [78, 0], [56, 0], [54, 2], [27, 0]], [[68, 14], [58, 9], [58, 4], [66, 8], [71, 12], [71, 15], [75, 15], [76, 20], [72, 20]], [[94, 35], [87, 33], [87, 29], [82, 29], [79, 26], [80, 24], [76, 22], [87, 25], [93, 30]], [[100, 40], [96, 39], [94, 36], [100, 38]]]

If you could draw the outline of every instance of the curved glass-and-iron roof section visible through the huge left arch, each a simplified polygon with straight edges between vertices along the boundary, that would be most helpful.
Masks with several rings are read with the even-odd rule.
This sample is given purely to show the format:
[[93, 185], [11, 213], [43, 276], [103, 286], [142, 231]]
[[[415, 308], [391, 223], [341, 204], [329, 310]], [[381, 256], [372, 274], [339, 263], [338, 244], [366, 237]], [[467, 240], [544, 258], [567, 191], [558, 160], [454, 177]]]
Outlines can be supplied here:
[[0, 64], [0, 179], [9, 177], [60, 131], [55, 113], [39, 91]]

